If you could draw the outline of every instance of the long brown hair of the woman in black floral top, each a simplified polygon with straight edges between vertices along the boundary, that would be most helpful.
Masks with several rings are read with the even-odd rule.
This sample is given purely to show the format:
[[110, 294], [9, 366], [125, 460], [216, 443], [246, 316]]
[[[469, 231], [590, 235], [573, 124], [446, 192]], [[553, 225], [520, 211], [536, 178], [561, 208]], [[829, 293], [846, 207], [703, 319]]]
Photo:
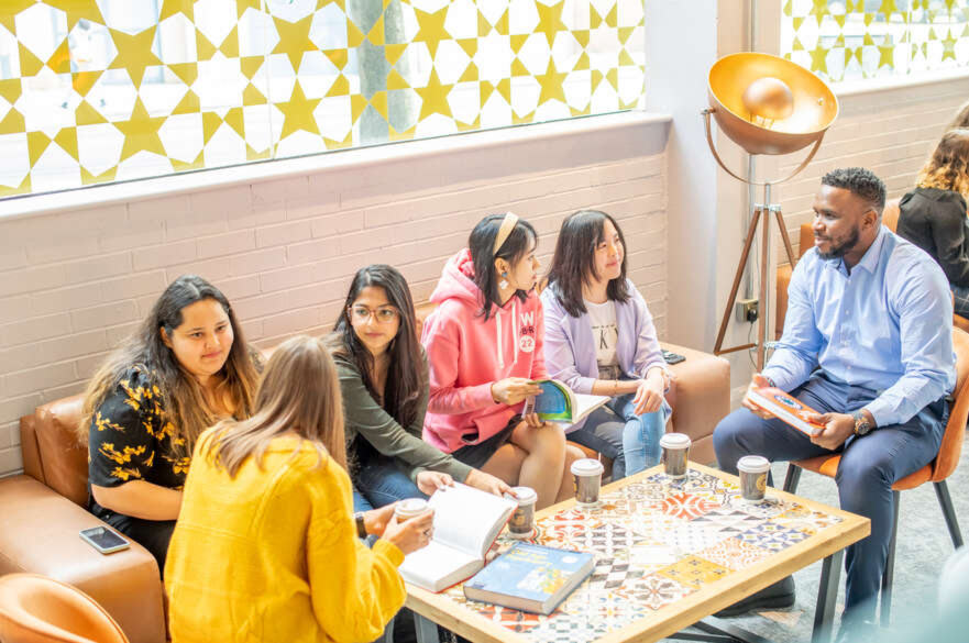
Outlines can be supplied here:
[[198, 380], [162, 341], [159, 329], [165, 329], [170, 336], [181, 325], [183, 309], [205, 299], [212, 299], [222, 306], [235, 337], [229, 357], [218, 373], [221, 381], [214, 395], [217, 399], [227, 397], [232, 400], [236, 418], [252, 414], [258, 375], [235, 312], [221, 290], [196, 275], [183, 275], [168, 285], [141, 328], [108, 356], [88, 384], [77, 426], [78, 437], [82, 442], [88, 441], [91, 417], [98, 407], [118, 387], [129, 369], [137, 367], [148, 377], [152, 386], [158, 388], [166, 420], [174, 429], [170, 440], [173, 455], [191, 455], [196, 439], [218, 418], [206, 402]]

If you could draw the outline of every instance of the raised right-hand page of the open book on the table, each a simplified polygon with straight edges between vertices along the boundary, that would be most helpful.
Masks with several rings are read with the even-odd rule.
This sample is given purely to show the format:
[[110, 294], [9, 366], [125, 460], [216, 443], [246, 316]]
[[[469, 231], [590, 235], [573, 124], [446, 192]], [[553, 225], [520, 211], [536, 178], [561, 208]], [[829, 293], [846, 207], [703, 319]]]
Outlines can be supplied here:
[[429, 503], [434, 510], [433, 539], [477, 558], [484, 558], [517, 507], [461, 484], [436, 491]]

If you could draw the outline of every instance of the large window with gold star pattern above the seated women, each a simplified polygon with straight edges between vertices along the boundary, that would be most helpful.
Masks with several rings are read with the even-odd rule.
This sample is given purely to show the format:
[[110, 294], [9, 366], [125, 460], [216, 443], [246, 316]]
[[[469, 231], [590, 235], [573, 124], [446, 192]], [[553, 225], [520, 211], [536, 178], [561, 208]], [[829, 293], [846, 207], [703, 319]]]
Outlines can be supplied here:
[[643, 0], [4, 0], [0, 197], [639, 107]]

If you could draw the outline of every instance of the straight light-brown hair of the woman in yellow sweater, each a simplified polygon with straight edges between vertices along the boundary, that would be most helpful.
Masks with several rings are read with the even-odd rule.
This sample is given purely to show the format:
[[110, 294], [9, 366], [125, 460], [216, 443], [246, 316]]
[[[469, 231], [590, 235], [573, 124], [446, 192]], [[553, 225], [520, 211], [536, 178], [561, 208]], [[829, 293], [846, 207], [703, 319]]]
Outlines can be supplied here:
[[287, 433], [315, 447], [318, 464], [329, 455], [346, 468], [340, 383], [322, 340], [298, 335], [280, 344], [263, 372], [253, 417], [220, 422], [199, 454], [234, 478], [249, 457], [262, 467], [269, 443]]

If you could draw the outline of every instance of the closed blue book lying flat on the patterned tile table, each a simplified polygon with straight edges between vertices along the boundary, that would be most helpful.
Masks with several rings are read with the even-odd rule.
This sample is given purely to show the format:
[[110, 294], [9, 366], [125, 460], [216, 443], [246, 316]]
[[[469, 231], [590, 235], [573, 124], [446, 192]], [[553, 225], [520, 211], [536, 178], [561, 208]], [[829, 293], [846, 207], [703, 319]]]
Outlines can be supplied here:
[[549, 614], [592, 574], [594, 565], [592, 554], [516, 543], [464, 584], [464, 596]]

